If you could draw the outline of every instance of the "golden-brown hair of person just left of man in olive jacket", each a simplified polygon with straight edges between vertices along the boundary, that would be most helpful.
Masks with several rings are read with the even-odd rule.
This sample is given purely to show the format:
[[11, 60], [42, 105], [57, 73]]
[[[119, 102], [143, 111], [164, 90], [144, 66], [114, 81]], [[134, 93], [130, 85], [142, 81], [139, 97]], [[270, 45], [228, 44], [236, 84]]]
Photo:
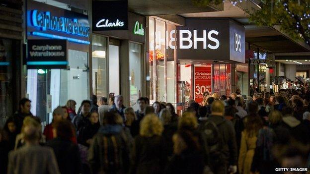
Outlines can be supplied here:
[[184, 112], [179, 119], [179, 129], [196, 129], [198, 127], [198, 121], [196, 116], [192, 112]]

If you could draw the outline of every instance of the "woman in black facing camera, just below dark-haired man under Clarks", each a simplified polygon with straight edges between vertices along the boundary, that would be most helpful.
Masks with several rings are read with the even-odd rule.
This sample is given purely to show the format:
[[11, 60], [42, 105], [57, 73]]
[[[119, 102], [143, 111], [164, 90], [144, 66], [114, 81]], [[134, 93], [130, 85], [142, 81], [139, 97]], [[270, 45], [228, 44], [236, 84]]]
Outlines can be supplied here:
[[78, 143], [89, 147], [92, 137], [98, 132], [99, 127], [99, 115], [96, 112], [92, 112], [89, 116], [89, 122], [83, 125], [79, 131]]

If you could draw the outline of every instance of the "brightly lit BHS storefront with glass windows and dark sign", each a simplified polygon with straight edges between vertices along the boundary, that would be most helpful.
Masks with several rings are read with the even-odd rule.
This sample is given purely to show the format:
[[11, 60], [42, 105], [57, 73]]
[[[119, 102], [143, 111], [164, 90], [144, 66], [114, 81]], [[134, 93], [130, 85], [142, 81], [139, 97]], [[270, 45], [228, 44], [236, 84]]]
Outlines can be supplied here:
[[177, 108], [183, 110], [190, 99], [201, 103], [205, 91], [231, 95], [234, 63], [244, 63], [243, 26], [230, 19], [188, 18], [185, 26], [158, 17], [148, 22], [152, 102], [182, 105]]

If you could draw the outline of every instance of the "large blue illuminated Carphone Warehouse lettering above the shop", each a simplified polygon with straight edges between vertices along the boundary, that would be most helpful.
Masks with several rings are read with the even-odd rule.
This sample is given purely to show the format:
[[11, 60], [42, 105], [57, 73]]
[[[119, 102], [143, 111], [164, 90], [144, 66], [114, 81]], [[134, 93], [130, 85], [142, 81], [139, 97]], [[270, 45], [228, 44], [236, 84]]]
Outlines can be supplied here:
[[[89, 25], [81, 23], [77, 18], [58, 17], [50, 11], [31, 10], [31, 24], [40, 27], [43, 31], [54, 30], [74, 34], [78, 36], [89, 36]], [[72, 41], [74, 42], [74, 41]]]

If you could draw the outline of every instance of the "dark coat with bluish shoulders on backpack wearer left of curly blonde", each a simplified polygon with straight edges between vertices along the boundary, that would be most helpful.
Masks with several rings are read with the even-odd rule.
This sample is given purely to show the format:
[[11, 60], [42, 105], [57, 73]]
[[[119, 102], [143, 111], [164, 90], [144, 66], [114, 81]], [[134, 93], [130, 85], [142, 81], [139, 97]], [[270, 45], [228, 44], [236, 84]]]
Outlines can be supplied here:
[[[105, 147], [102, 143], [104, 137], [114, 136], [116, 139], [117, 147], [119, 148], [120, 167], [118, 171], [113, 171], [113, 174], [125, 174], [129, 170], [129, 147], [130, 137], [124, 132], [124, 127], [118, 124], [104, 125], [98, 130], [98, 133], [93, 137], [93, 142], [88, 150], [87, 160], [90, 165], [92, 174], [110, 174], [104, 171], [105, 167]], [[115, 151], [114, 151], [115, 152]], [[111, 173], [111, 174], [112, 174]]]

